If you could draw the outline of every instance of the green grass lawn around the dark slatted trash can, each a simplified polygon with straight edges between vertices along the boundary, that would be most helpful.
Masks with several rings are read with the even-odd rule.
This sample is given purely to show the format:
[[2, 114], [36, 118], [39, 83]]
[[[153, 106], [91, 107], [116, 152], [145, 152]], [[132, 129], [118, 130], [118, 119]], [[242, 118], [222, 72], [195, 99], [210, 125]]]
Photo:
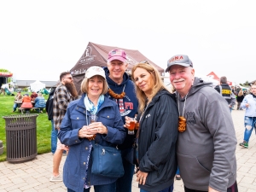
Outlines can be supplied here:
[[[21, 93], [22, 95], [25, 92]], [[16, 95], [16, 93], [15, 93]], [[30, 94], [29, 94], [30, 95]], [[49, 95], [44, 95], [47, 99]], [[0, 140], [3, 141], [3, 154], [0, 155], [0, 162], [6, 160], [6, 137], [5, 137], [5, 119], [3, 116], [9, 116], [13, 114], [21, 114], [18, 110], [12, 113], [14, 106], [15, 96], [3, 96], [0, 95]], [[31, 111], [31, 113], [37, 113]], [[50, 152], [50, 134], [51, 124], [48, 120], [48, 115], [45, 113], [39, 113], [37, 117], [37, 142], [38, 142], [38, 154], [44, 154]]]

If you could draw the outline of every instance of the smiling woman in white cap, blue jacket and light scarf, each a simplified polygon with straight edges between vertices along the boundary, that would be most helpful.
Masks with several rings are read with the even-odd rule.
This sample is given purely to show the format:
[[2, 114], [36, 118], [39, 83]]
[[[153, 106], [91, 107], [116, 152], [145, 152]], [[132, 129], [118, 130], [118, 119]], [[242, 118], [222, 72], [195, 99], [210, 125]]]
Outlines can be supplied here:
[[[108, 91], [102, 67], [90, 67], [81, 84], [84, 93], [79, 100], [70, 102], [61, 122], [58, 137], [69, 147], [63, 168], [63, 182], [68, 192], [87, 192], [94, 186], [96, 192], [115, 191], [117, 177], [101, 177], [91, 173], [91, 140], [102, 146], [115, 147], [125, 140], [125, 129], [119, 108], [104, 96]], [[90, 123], [90, 115], [96, 122]]]

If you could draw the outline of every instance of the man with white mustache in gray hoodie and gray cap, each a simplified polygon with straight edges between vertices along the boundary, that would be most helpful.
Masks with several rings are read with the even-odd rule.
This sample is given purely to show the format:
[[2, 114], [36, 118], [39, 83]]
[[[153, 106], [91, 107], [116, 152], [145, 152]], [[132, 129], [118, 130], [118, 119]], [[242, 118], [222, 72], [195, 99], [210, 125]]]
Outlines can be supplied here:
[[236, 133], [230, 109], [212, 83], [195, 77], [188, 55], [167, 61], [177, 93], [177, 164], [185, 192], [236, 192]]

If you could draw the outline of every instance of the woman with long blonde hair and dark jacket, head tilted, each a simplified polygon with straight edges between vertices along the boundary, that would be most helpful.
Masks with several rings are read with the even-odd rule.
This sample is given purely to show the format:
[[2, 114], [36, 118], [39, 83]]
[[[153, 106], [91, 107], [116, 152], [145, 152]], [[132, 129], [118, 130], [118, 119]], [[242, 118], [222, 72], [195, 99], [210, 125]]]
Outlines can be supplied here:
[[[175, 96], [164, 86], [159, 72], [139, 63], [131, 70], [139, 101], [137, 132], [141, 192], [172, 191], [177, 171], [176, 140], [178, 113]], [[128, 127], [128, 118], [125, 126]]]

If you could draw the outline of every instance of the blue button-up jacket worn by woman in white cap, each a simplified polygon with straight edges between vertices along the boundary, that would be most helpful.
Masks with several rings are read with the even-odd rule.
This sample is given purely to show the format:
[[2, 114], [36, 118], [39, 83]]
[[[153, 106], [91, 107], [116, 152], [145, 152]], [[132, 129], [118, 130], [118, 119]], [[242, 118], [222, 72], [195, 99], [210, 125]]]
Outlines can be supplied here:
[[[90, 141], [86, 138], [79, 138], [79, 129], [87, 125], [90, 112], [84, 106], [84, 94], [79, 100], [70, 102], [67, 112], [61, 122], [61, 130], [58, 137], [61, 143], [69, 146], [69, 152], [63, 168], [63, 182], [68, 189], [84, 191], [84, 181], [88, 185], [101, 185], [113, 183], [117, 178], [100, 177], [90, 173], [91, 159], [87, 162], [89, 155]], [[121, 119], [119, 108], [116, 102], [105, 96], [101, 108], [97, 112], [98, 122], [102, 122], [108, 128], [108, 134], [96, 134], [96, 143], [103, 146], [115, 146], [125, 140], [125, 128]], [[90, 124], [90, 122], [88, 122]], [[89, 163], [86, 175], [86, 163]]]

